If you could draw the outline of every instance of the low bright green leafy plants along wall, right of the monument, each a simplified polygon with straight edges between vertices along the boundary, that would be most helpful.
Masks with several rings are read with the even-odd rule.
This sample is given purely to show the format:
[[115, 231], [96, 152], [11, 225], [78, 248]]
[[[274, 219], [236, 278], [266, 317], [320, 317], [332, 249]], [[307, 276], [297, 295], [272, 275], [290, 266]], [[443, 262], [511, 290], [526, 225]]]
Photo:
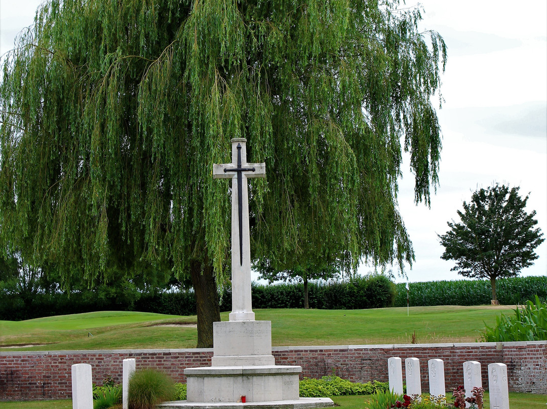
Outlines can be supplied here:
[[350, 382], [331, 375], [321, 379], [304, 378], [300, 381], [301, 398], [321, 398], [323, 396], [371, 395], [378, 390], [387, 390], [386, 382]]

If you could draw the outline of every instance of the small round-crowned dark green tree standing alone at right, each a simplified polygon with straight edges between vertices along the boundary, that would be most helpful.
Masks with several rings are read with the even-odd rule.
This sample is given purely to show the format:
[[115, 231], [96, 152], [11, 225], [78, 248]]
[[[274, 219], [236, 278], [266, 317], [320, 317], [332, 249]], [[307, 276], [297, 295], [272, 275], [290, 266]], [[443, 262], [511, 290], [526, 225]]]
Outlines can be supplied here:
[[473, 193], [458, 211], [460, 223], [439, 235], [444, 260], [456, 260], [451, 271], [464, 277], [490, 278], [492, 301], [497, 303], [496, 278], [515, 277], [538, 258], [534, 249], [544, 239], [534, 219], [536, 211], [526, 213], [528, 196], [522, 199], [519, 188], [496, 184]]

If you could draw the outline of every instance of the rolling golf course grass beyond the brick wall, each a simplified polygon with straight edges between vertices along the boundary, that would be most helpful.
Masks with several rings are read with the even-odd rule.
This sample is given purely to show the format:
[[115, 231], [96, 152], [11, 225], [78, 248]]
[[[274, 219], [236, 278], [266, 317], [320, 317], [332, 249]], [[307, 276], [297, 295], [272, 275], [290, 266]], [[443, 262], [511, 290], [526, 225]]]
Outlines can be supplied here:
[[[440, 306], [354, 310], [257, 309], [257, 320], [272, 322], [273, 346], [474, 342], [484, 323], [493, 325], [510, 306]], [[228, 320], [228, 313], [222, 313]], [[0, 321], [2, 350], [194, 348], [195, 315], [180, 317], [103, 311], [26, 321]], [[91, 336], [91, 335], [92, 336]], [[43, 346], [8, 347], [46, 344]]]

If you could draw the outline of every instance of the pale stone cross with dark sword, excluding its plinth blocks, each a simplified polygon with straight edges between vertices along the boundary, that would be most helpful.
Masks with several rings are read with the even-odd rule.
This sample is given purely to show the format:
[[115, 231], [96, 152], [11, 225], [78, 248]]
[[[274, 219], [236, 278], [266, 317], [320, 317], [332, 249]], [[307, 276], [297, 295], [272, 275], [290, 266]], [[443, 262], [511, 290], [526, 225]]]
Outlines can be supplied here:
[[213, 165], [213, 178], [232, 179], [232, 312], [230, 321], [253, 321], [248, 178], [265, 178], [265, 163], [247, 163], [245, 138], [234, 138], [232, 163]]

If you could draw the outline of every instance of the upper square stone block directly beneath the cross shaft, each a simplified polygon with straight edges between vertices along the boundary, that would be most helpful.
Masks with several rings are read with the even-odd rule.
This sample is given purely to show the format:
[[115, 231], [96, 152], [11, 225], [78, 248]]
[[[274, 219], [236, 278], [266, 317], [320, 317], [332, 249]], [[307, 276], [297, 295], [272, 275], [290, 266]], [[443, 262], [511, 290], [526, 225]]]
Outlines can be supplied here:
[[270, 321], [213, 324], [212, 366], [274, 365]]

